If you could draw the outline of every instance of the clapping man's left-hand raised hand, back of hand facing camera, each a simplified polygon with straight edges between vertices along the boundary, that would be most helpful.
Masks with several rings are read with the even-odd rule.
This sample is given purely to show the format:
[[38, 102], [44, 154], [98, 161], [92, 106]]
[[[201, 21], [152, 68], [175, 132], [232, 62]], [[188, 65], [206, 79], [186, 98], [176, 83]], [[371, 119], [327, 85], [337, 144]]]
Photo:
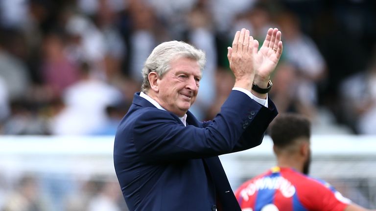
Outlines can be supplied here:
[[241, 29], [234, 37], [233, 46], [228, 47], [227, 58], [235, 75], [235, 86], [251, 90], [255, 70], [255, 42], [249, 30]]

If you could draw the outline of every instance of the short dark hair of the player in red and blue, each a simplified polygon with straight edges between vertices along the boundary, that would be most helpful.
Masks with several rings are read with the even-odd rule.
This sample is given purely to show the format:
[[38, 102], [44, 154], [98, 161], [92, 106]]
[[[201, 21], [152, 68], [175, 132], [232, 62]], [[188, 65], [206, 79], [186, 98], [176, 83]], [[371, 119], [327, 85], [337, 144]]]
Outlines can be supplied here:
[[269, 134], [278, 148], [287, 148], [299, 138], [311, 135], [311, 123], [303, 115], [295, 113], [279, 114], [269, 126]]

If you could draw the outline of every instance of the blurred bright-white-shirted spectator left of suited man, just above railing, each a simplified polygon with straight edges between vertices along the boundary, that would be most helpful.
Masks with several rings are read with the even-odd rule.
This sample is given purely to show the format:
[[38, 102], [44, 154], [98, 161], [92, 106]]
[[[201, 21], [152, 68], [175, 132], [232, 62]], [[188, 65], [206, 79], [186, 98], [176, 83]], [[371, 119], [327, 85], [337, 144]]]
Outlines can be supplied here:
[[105, 124], [106, 106], [123, 99], [116, 87], [91, 76], [88, 63], [82, 63], [79, 71], [81, 79], [64, 93], [65, 108], [52, 118], [52, 134], [92, 134]]

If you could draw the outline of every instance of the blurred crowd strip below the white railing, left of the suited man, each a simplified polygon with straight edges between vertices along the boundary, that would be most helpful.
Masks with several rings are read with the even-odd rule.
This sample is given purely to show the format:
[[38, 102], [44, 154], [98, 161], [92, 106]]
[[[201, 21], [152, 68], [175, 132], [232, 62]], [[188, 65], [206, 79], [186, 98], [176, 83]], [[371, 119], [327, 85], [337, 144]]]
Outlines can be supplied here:
[[[48, 184], [49, 181], [54, 183]], [[88, 179], [55, 177], [51, 180], [26, 173], [19, 180], [0, 184], [0, 210], [127, 211], [128, 209], [116, 178], [98, 175]]]

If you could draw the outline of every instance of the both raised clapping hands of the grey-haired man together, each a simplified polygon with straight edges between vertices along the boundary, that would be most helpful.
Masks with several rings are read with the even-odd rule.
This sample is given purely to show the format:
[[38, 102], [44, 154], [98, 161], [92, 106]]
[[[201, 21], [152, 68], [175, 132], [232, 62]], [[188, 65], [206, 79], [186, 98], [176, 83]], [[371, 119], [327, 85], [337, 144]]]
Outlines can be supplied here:
[[282, 55], [281, 36], [282, 33], [277, 28], [270, 28], [258, 50], [258, 41], [250, 36], [249, 30], [243, 28], [236, 32], [232, 47], [228, 47], [227, 53], [236, 87], [251, 90], [252, 83], [261, 88], [267, 87], [270, 75]]

